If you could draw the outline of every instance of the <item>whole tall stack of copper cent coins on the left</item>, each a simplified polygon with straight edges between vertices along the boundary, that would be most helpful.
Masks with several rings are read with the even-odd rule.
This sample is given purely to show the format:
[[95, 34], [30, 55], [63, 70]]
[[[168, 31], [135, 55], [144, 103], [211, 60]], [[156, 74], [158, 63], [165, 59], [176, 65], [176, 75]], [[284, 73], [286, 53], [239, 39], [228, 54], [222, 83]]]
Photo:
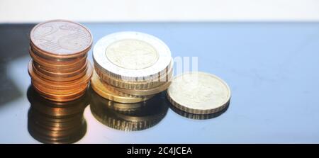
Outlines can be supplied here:
[[92, 36], [87, 28], [71, 21], [47, 21], [30, 32], [28, 72], [33, 87], [52, 101], [81, 97], [93, 72], [87, 52]]

